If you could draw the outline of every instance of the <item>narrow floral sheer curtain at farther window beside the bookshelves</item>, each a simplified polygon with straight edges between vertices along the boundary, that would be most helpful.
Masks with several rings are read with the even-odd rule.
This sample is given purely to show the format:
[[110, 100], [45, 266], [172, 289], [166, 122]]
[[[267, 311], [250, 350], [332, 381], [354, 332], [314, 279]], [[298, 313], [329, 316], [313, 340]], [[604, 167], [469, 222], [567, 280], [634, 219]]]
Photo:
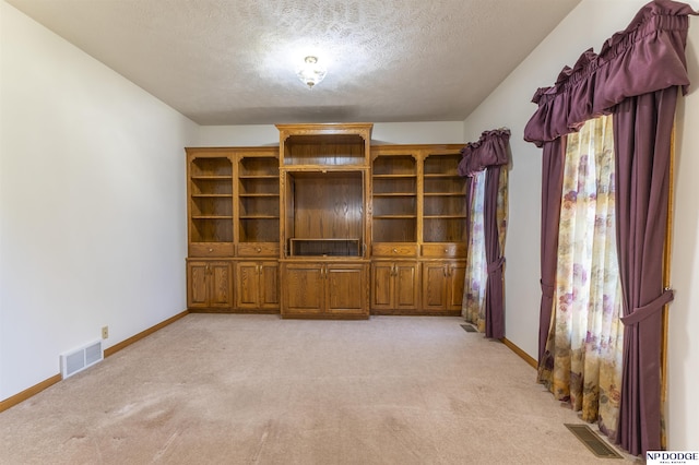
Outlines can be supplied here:
[[465, 321], [473, 323], [481, 333], [485, 332], [485, 283], [488, 278], [483, 224], [484, 200], [485, 172], [479, 171], [471, 177], [469, 254], [461, 314]]

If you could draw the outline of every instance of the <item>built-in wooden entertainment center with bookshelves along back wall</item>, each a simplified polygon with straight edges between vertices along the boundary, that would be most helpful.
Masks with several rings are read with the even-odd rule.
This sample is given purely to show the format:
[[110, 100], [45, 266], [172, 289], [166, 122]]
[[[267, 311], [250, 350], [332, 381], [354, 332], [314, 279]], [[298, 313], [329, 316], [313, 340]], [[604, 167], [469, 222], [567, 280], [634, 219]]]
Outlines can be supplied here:
[[190, 311], [461, 314], [462, 145], [370, 123], [277, 124], [279, 147], [187, 148]]

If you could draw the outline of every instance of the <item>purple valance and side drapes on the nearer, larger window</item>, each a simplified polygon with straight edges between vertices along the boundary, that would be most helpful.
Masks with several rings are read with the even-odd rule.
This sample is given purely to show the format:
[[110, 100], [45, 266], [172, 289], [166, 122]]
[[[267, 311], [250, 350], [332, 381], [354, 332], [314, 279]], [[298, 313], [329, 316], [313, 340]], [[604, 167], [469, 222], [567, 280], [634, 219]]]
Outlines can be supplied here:
[[553, 86], [536, 91], [533, 102], [538, 107], [524, 128], [524, 140], [544, 148], [541, 365], [545, 361], [541, 343], [549, 339], [549, 306], [555, 305], [555, 270], [549, 265], [557, 260], [553, 240], [558, 218], [545, 208], [557, 203], [552, 196], [558, 193], [554, 183], [560, 180], [560, 170], [552, 157], [562, 156], [567, 134], [585, 121], [614, 114], [625, 324], [615, 442], [635, 455], [662, 446], [660, 310], [673, 299], [672, 289], [664, 289], [662, 282], [671, 133], [677, 94], [686, 93], [689, 85], [688, 16], [697, 14], [690, 5], [673, 0], [647, 3], [599, 53], [585, 50], [572, 68], [564, 67]]

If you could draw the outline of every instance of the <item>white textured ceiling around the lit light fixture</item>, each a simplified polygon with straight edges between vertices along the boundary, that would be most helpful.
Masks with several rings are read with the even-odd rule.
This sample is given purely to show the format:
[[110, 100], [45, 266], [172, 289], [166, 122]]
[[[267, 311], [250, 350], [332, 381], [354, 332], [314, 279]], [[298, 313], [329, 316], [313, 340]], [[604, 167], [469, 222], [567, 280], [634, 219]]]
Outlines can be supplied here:
[[7, 1], [200, 124], [463, 120], [580, 2]]

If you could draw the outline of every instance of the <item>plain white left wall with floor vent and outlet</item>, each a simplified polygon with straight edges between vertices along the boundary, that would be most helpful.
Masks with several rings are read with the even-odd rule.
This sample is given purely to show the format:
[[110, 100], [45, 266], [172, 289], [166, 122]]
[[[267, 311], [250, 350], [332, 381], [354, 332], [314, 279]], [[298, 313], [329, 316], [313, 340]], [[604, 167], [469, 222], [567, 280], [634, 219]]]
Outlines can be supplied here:
[[0, 400], [186, 309], [197, 124], [0, 0]]

